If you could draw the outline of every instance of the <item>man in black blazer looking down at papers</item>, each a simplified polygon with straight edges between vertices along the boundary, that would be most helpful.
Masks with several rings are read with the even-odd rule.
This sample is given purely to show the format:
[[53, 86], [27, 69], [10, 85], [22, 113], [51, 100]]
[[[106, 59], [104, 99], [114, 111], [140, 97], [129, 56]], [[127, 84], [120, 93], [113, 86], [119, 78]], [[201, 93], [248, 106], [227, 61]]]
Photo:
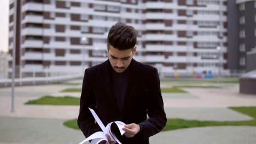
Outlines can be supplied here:
[[165, 127], [158, 71], [132, 58], [136, 41], [133, 27], [116, 23], [108, 33], [108, 60], [85, 70], [78, 116], [85, 137], [102, 131], [88, 107], [104, 125], [113, 121], [127, 124], [125, 134], [117, 136], [124, 144], [149, 143], [149, 137]]

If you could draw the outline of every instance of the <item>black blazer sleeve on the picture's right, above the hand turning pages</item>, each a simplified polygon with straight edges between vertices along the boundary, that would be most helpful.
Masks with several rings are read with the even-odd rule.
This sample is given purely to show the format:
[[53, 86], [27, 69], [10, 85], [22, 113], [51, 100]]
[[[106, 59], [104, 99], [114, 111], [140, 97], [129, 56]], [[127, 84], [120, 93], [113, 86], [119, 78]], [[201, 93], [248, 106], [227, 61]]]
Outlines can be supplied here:
[[150, 136], [159, 133], [164, 129], [167, 121], [157, 69], [153, 69], [152, 73], [148, 75], [148, 79], [150, 80], [148, 81], [149, 92], [147, 98], [149, 119], [138, 124], [141, 128], [138, 137], [142, 139], [148, 139]]

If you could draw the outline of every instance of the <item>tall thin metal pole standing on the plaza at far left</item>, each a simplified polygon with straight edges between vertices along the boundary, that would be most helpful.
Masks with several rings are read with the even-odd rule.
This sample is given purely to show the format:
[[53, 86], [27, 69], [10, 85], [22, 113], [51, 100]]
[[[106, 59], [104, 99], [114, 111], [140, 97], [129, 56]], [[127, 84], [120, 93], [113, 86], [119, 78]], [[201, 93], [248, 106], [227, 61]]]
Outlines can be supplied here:
[[15, 96], [15, 60], [16, 60], [16, 13], [17, 13], [17, 2], [14, 1], [14, 13], [13, 13], [13, 69], [11, 79], [11, 112], [14, 110], [14, 96]]

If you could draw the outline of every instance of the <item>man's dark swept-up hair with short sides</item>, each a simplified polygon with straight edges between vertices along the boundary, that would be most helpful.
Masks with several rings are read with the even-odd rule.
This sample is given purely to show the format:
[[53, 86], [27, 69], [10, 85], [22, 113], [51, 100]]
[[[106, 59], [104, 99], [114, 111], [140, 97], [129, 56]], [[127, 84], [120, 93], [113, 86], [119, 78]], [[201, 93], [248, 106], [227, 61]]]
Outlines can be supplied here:
[[127, 26], [123, 22], [118, 22], [112, 26], [108, 32], [108, 49], [112, 45], [118, 50], [132, 49], [137, 41], [135, 28]]

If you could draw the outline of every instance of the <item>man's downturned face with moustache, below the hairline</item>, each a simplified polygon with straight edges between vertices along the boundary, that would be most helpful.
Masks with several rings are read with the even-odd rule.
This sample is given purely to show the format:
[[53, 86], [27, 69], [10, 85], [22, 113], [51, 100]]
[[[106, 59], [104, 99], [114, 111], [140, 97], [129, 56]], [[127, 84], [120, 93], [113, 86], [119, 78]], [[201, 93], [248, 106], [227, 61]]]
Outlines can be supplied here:
[[108, 59], [112, 68], [117, 73], [123, 73], [127, 67], [129, 67], [133, 53], [135, 53], [136, 47], [128, 50], [118, 50], [112, 45], [108, 47]]

